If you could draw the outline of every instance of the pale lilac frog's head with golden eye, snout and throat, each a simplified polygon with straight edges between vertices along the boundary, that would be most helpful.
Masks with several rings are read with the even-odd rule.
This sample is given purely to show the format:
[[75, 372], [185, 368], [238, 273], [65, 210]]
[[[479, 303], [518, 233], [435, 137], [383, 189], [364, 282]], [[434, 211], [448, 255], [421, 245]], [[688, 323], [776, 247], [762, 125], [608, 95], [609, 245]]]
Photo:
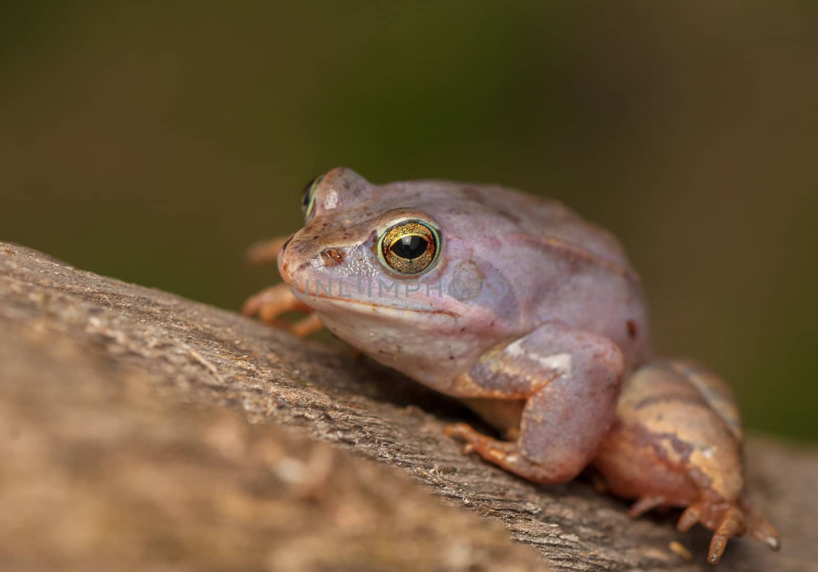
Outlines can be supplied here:
[[330, 331], [391, 367], [417, 367], [430, 341], [457, 332], [463, 341], [449, 336], [442, 350], [455, 361], [470, 333], [502, 329], [483, 231], [463, 201], [456, 183], [375, 186], [333, 169], [303, 191], [304, 227], [281, 249], [281, 277]]

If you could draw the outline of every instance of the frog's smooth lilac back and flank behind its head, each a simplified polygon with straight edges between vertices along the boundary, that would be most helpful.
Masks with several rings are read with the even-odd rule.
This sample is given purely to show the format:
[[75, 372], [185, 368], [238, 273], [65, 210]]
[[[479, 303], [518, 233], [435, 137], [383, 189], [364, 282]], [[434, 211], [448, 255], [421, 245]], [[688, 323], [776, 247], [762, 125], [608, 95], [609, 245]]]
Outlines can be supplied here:
[[617, 342], [629, 367], [648, 357], [640, 280], [610, 232], [557, 200], [491, 185], [428, 184], [436, 196], [425, 193], [426, 206], [457, 255], [479, 257], [511, 285], [522, 330], [560, 320]]

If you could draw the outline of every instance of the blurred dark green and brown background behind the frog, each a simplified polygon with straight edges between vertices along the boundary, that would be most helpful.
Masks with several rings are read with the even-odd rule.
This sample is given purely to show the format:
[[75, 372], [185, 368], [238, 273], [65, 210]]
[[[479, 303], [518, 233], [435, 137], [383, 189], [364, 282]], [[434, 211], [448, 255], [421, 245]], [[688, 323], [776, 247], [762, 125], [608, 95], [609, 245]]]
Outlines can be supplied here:
[[658, 350], [818, 439], [818, 3], [0, 11], [0, 239], [236, 309], [318, 173], [499, 182], [609, 227]]

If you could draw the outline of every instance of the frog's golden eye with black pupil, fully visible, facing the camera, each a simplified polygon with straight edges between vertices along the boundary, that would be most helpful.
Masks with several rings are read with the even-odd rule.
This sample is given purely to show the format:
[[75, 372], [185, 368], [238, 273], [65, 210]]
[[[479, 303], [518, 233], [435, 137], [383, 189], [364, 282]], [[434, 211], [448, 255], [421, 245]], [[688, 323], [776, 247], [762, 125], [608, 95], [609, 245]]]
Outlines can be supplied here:
[[407, 220], [393, 225], [380, 236], [378, 258], [401, 274], [418, 274], [438, 258], [440, 236], [428, 223]]

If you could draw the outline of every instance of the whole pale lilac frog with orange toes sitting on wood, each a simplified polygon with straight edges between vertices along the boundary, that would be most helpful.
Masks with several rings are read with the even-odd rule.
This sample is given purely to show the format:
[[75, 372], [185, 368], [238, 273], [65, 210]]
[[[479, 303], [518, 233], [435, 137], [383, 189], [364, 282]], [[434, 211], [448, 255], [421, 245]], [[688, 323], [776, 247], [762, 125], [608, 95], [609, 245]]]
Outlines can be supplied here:
[[[514, 475], [560, 484], [591, 470], [636, 500], [634, 516], [686, 507], [680, 529], [715, 532], [710, 561], [747, 531], [778, 547], [744, 491], [735, 400], [717, 376], [654, 358], [640, 277], [613, 234], [509, 187], [375, 185], [343, 167], [304, 187], [301, 208], [298, 232], [249, 250], [282, 282], [249, 297], [246, 315], [299, 336], [326, 328], [460, 400], [497, 435], [465, 422], [446, 434]], [[283, 322], [290, 312], [304, 318]], [[679, 407], [685, 392], [709, 433], [641, 405]]]

